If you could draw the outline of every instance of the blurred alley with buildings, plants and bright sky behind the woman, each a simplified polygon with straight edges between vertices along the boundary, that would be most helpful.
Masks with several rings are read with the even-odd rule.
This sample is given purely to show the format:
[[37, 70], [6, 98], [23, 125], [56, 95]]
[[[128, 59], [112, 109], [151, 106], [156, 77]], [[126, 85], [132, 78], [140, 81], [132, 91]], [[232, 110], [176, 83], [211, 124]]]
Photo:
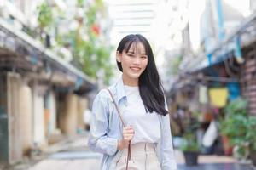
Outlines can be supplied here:
[[255, 169], [255, 23], [254, 0], [1, 0], [0, 169], [99, 169], [91, 103], [131, 33], [154, 50], [178, 169]]

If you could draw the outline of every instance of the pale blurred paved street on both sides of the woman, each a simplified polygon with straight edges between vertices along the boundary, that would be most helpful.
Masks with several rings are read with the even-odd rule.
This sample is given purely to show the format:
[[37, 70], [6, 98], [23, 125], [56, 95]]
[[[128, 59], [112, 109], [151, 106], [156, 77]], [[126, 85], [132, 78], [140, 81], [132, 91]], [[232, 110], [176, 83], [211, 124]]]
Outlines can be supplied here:
[[[88, 150], [86, 135], [69, 139], [62, 144], [49, 147], [51, 152], [44, 160], [34, 165], [23, 164], [9, 170], [97, 170], [100, 168], [100, 154]], [[59, 150], [55, 152], [55, 150]], [[178, 170], [253, 170], [253, 167], [238, 164], [228, 156], [200, 156], [199, 165], [184, 165], [183, 154], [175, 150]], [[254, 168], [255, 169], [255, 168]]]

